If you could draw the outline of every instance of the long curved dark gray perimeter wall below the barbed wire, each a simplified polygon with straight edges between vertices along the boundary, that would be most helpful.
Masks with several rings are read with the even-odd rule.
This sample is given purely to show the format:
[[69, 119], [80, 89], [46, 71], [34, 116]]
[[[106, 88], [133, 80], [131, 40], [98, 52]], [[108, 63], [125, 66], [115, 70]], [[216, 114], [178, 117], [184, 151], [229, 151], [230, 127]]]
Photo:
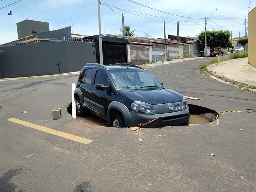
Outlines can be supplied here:
[[1, 47], [0, 78], [58, 74], [80, 71], [96, 62], [95, 44], [84, 42], [39, 42]]

